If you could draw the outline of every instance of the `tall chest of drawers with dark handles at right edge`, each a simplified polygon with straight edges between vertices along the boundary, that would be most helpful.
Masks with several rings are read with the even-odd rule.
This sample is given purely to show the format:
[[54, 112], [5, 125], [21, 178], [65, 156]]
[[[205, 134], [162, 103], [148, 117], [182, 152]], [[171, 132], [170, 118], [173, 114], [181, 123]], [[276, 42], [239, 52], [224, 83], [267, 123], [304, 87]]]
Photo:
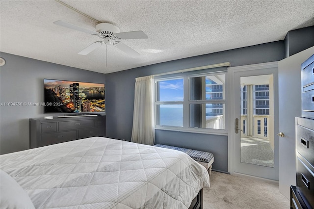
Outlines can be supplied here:
[[290, 208], [314, 208], [314, 54], [301, 66], [302, 117], [295, 120], [296, 186]]

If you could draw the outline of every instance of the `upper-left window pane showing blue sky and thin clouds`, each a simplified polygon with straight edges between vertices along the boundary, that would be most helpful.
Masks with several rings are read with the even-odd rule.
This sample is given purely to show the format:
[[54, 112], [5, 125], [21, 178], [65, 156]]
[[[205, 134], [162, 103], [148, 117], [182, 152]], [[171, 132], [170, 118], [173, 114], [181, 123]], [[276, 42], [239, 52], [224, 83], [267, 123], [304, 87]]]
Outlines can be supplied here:
[[157, 101], [183, 101], [183, 78], [157, 81]]

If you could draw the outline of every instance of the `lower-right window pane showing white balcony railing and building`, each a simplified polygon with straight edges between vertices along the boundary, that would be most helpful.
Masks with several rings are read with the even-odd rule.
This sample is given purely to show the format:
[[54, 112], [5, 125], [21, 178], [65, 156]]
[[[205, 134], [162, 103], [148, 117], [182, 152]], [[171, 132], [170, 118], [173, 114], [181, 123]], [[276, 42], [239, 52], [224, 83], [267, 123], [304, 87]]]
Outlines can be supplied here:
[[190, 127], [225, 129], [225, 104], [190, 104]]

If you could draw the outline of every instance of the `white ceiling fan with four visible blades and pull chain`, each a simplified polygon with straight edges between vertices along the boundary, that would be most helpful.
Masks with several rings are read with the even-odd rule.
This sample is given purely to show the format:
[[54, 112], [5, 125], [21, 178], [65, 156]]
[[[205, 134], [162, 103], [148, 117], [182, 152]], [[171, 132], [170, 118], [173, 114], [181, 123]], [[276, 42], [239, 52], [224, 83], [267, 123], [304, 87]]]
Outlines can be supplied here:
[[95, 49], [101, 47], [102, 45], [110, 45], [117, 47], [122, 52], [125, 52], [131, 56], [138, 56], [140, 55], [138, 52], [135, 52], [133, 49], [122, 43], [121, 39], [143, 39], [148, 38], [147, 35], [139, 30], [139, 31], [130, 31], [130, 32], [122, 32], [120, 33], [120, 29], [117, 26], [114, 26], [110, 23], [100, 23], [96, 26], [96, 31], [89, 30], [80, 26], [76, 26], [70, 23], [63, 22], [61, 20], [53, 22], [55, 25], [68, 27], [71, 29], [75, 29], [81, 32], [89, 33], [92, 35], [98, 35], [103, 40], [96, 41], [83, 49], [82, 51], [78, 52], [78, 54], [86, 55]]

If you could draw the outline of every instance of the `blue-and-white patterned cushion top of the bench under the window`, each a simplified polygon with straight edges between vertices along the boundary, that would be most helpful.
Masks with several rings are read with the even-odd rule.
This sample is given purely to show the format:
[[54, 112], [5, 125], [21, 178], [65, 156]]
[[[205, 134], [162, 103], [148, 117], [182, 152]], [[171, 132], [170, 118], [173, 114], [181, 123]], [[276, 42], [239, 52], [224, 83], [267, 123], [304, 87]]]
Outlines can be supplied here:
[[199, 150], [191, 150], [191, 149], [186, 149], [182, 147], [174, 147], [174, 146], [163, 145], [163, 144], [156, 144], [154, 146], [181, 151], [183, 153], [186, 153], [195, 161], [200, 161], [200, 162], [208, 163], [214, 157], [214, 155], [209, 152], [204, 152], [204, 151], [199, 151]]

